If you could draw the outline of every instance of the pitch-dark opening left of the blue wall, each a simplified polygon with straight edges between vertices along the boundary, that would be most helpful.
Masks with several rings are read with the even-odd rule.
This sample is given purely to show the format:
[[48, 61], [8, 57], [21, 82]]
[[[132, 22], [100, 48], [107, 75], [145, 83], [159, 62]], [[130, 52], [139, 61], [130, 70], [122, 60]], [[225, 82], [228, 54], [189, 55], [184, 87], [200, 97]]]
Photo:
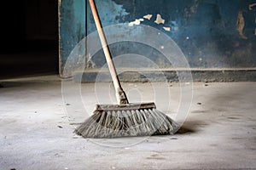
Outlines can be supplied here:
[[58, 73], [58, 1], [3, 1], [0, 79]]

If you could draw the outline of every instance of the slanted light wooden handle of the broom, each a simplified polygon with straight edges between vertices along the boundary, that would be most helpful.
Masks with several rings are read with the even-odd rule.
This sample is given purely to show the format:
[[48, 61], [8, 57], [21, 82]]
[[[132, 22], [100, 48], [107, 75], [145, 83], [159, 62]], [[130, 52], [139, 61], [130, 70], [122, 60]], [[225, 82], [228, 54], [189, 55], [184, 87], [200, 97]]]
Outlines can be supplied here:
[[93, 14], [93, 18], [95, 20], [96, 23], [96, 29], [99, 33], [99, 37], [100, 40], [102, 42], [102, 48], [103, 48], [103, 52], [105, 54], [107, 63], [108, 63], [108, 69], [110, 71], [112, 80], [113, 80], [113, 86], [115, 88], [115, 93], [116, 93], [116, 98], [118, 100], [119, 105], [125, 105], [125, 104], [129, 104], [128, 99], [126, 97], [125, 91], [123, 90], [123, 88], [121, 87], [120, 81], [119, 81], [119, 77], [117, 75], [117, 71], [115, 70], [115, 67], [113, 65], [113, 60], [108, 48], [108, 42], [106, 40], [104, 31], [102, 29], [102, 23], [101, 20], [99, 18], [99, 14], [97, 12], [96, 9], [96, 4], [94, 2], [94, 0], [89, 0], [90, 3], [90, 8]]

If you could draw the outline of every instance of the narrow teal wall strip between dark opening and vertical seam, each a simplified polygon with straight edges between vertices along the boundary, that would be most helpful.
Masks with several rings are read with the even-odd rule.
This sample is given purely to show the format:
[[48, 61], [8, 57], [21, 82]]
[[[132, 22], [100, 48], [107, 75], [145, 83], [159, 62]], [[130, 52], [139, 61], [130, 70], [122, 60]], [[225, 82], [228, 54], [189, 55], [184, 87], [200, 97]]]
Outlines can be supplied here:
[[[85, 37], [84, 16], [84, 0], [59, 1], [59, 68], [61, 75], [69, 54], [77, 43]], [[83, 54], [83, 52], [81, 53]], [[74, 60], [74, 65], [75, 62]]]

